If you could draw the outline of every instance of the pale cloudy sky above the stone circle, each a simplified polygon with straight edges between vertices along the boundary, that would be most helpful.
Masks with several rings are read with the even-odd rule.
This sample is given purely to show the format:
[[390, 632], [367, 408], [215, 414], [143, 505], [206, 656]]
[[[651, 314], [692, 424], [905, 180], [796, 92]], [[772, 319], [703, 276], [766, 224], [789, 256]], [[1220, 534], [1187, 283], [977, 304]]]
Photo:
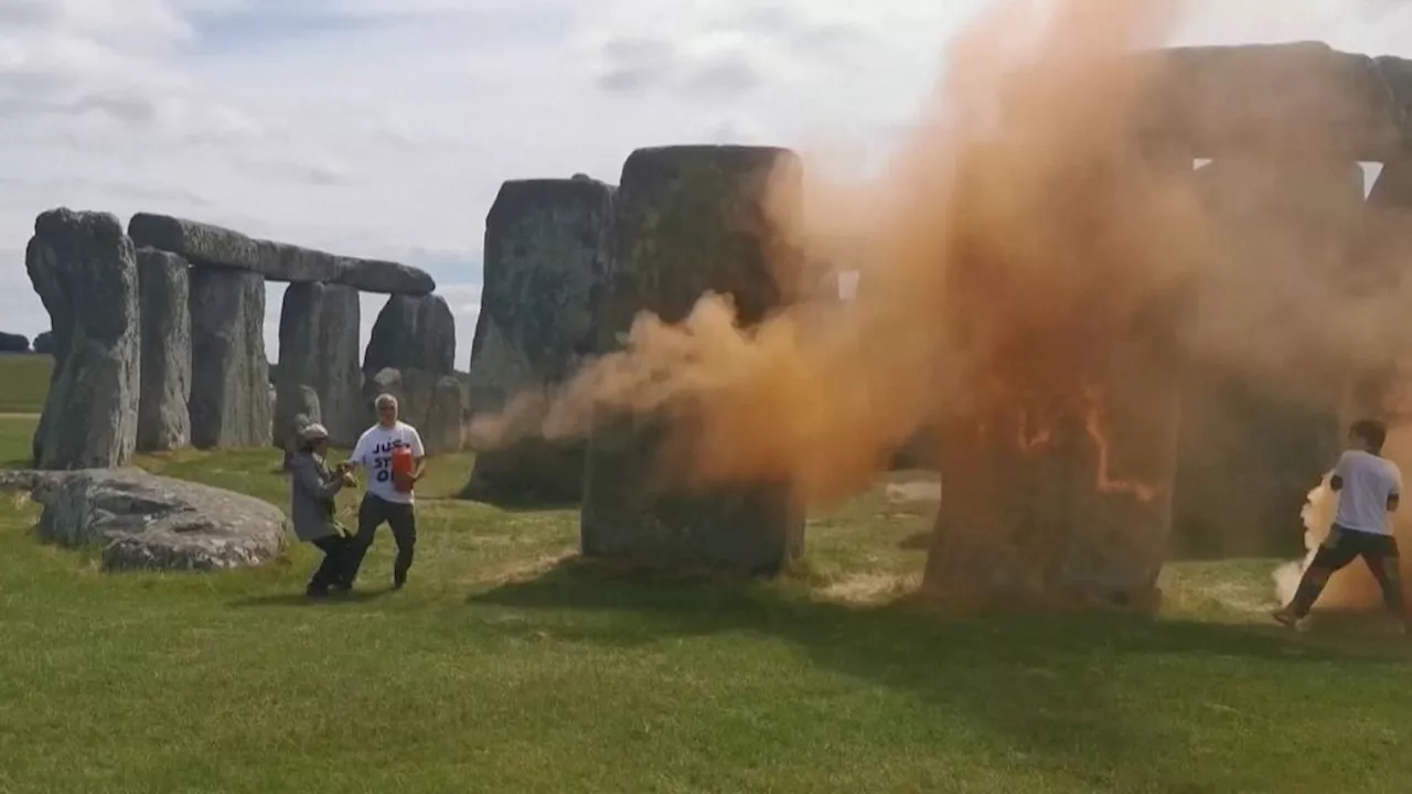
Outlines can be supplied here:
[[[504, 179], [616, 182], [669, 143], [875, 161], [981, 3], [0, 0], [0, 329], [48, 328], [24, 274], [38, 212], [168, 212], [426, 267], [465, 369]], [[1179, 42], [1412, 57], [1406, 6], [1195, 0]]]

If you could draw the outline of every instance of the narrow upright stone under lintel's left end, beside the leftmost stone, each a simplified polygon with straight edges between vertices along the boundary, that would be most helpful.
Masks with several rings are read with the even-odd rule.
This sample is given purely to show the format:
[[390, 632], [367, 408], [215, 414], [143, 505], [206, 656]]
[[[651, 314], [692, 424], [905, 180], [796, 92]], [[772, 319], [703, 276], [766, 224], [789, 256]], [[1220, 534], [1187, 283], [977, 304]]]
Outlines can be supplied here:
[[137, 449], [158, 452], [191, 444], [191, 284], [182, 257], [137, 250], [143, 316], [143, 394]]

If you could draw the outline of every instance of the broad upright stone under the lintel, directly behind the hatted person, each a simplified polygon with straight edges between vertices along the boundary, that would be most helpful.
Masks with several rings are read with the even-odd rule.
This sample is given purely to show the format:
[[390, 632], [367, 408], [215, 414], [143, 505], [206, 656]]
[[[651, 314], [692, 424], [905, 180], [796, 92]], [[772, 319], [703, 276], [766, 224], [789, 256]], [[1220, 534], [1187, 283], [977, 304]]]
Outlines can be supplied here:
[[357, 290], [335, 284], [291, 284], [285, 290], [277, 389], [291, 398], [299, 387], [313, 387], [322, 422], [339, 446], [352, 446], [364, 428], [359, 331]]

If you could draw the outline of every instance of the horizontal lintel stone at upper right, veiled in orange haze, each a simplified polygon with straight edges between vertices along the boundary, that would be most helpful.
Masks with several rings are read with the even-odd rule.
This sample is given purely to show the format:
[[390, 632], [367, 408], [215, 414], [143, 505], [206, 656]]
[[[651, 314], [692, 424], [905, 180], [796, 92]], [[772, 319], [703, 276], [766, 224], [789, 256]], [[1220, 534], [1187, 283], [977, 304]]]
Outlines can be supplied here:
[[1323, 42], [1161, 51], [1154, 85], [1190, 154], [1303, 154], [1385, 160], [1402, 150], [1404, 116], [1388, 64]]

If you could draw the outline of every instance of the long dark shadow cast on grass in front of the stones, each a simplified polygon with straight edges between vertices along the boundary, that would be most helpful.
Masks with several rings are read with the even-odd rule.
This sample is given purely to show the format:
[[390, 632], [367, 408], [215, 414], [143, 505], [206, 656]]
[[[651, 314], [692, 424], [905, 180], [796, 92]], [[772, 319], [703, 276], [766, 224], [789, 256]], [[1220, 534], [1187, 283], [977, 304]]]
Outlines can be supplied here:
[[[1292, 663], [1337, 661], [1350, 675], [1392, 658], [1405, 664], [1405, 654], [1320, 647], [1274, 626], [1127, 613], [959, 619], [916, 600], [822, 602], [798, 582], [723, 583], [572, 561], [473, 593], [469, 603], [537, 612], [534, 620], [487, 630], [624, 653], [722, 634], [785, 643], [816, 667], [915, 697], [1046, 763], [1082, 767], [1101, 747], [1130, 771], [1187, 746], [1179, 722], [1154, 719], [1158, 704], [1221, 708], [1204, 704], [1203, 692], [1227, 675], [1252, 667], [1278, 672]], [[1309, 674], [1322, 675], [1317, 670]]]

